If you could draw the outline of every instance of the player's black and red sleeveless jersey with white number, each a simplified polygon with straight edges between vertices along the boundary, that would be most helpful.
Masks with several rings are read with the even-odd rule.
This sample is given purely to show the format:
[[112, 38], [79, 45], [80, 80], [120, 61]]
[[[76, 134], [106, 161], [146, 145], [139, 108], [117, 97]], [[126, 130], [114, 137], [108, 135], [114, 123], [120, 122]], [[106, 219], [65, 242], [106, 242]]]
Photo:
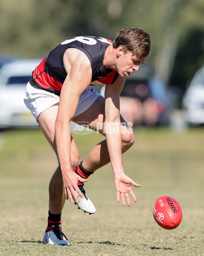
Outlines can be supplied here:
[[[77, 48], [86, 54], [92, 69], [90, 85], [112, 84], [118, 77], [115, 70], [104, 70], [103, 58], [111, 40], [101, 37], [74, 37], [56, 46], [46, 58], [35, 68], [30, 79], [33, 87], [60, 95], [62, 85], [67, 76], [63, 56], [67, 48]], [[86, 74], [84, 74], [86, 75]]]

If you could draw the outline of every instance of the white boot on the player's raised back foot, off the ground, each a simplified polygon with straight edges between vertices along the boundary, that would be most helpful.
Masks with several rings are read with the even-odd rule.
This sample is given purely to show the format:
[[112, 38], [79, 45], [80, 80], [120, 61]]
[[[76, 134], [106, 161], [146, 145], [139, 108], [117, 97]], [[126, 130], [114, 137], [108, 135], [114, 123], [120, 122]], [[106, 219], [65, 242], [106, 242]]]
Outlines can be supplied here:
[[[80, 197], [80, 195], [77, 193], [77, 191], [75, 191], [75, 193], [77, 194], [78, 200], [79, 202], [75, 204], [77, 204], [78, 209], [81, 209], [84, 212], [87, 212], [89, 214], [94, 214], [96, 212], [96, 208], [94, 206], [94, 204], [91, 202], [91, 200], [86, 197], [86, 192], [85, 189], [83, 188], [84, 185], [79, 185], [79, 188], [83, 194], [83, 198]], [[72, 195], [73, 200], [75, 201], [73, 195]]]

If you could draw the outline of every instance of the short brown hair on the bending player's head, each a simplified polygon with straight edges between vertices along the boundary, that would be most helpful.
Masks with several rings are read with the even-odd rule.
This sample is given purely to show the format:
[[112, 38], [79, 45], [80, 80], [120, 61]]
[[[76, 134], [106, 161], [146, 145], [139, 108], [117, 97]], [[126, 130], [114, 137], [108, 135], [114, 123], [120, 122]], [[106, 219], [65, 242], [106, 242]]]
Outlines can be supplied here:
[[120, 30], [113, 41], [113, 47], [124, 47], [125, 52], [132, 52], [138, 57], [150, 55], [150, 35], [140, 28], [124, 28]]

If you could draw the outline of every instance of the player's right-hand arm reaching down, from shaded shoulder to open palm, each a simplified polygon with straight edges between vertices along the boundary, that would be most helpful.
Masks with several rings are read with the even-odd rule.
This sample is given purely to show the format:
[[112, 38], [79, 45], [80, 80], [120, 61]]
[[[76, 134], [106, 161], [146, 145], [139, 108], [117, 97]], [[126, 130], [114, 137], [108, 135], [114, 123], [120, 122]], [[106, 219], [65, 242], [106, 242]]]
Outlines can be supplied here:
[[115, 187], [117, 192], [117, 201], [130, 206], [129, 194], [137, 202], [131, 185], [140, 187], [124, 173], [122, 159], [122, 133], [120, 123], [120, 93], [124, 86], [125, 78], [118, 76], [113, 84], [106, 85], [105, 89], [105, 135], [108, 147], [108, 153], [115, 177]]

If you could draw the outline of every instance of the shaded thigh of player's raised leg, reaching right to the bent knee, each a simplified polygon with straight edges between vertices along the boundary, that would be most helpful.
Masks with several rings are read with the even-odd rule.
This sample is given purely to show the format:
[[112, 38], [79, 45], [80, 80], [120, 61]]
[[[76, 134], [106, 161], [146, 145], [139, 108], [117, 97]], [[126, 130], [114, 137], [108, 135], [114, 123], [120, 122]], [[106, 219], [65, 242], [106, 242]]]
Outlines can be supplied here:
[[[87, 125], [90, 123], [90, 129], [94, 129], [105, 135], [103, 129], [105, 121], [105, 99], [102, 96], [99, 96], [86, 111], [74, 117], [72, 121], [81, 125], [84, 125], [84, 122], [87, 122]], [[123, 137], [125, 137], [125, 134], [130, 134], [132, 129], [121, 115], [120, 122], [122, 124], [122, 134], [124, 134]]]

